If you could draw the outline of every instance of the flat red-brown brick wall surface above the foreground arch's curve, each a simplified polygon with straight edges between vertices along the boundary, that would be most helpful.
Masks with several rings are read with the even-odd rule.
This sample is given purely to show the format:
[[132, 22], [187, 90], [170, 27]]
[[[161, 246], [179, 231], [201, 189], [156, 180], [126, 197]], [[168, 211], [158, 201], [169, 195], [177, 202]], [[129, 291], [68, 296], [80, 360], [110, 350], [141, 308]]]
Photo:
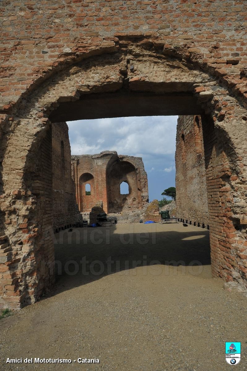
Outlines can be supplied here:
[[244, 96], [246, 12], [244, 0], [2, 0], [2, 107], [52, 66], [76, 53], [114, 48], [124, 35], [155, 38], [157, 48], [206, 64]]

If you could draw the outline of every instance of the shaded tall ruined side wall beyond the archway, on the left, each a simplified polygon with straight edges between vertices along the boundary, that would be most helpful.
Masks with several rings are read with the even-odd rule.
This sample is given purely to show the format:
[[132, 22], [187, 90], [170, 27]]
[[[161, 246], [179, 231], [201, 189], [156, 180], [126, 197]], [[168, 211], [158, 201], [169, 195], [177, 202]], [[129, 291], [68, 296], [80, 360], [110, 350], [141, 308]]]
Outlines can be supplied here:
[[81, 221], [75, 185], [71, 177], [71, 150], [66, 122], [52, 124], [53, 228], [68, 227]]

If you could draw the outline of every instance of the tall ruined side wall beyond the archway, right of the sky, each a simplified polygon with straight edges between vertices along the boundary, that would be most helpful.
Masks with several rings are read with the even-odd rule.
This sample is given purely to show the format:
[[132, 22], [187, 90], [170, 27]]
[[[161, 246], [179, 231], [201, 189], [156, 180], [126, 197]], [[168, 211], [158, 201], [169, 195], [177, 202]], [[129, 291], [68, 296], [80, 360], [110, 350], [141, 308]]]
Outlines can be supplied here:
[[176, 216], [208, 225], [208, 199], [201, 116], [179, 116], [176, 134]]

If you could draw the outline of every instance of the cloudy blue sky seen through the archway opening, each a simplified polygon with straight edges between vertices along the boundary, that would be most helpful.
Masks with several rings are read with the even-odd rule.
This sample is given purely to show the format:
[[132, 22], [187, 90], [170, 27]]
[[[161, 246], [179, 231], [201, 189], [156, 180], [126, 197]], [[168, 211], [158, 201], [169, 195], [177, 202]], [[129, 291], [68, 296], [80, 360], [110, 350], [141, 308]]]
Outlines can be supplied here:
[[161, 200], [175, 186], [175, 144], [178, 116], [120, 117], [67, 122], [72, 155], [117, 151], [142, 157], [149, 200]]

